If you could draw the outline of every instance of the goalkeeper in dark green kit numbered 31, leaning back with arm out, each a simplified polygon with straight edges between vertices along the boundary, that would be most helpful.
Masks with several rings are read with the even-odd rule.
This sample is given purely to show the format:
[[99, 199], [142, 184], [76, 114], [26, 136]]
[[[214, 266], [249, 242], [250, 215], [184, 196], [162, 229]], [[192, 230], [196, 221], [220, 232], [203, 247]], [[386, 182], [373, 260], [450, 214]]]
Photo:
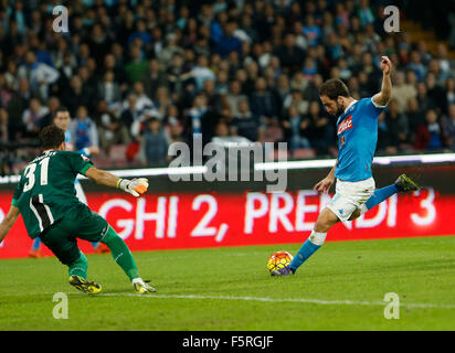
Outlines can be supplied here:
[[147, 179], [119, 179], [93, 167], [87, 157], [65, 151], [65, 133], [54, 125], [41, 130], [40, 141], [43, 153], [32, 160], [21, 174], [11, 207], [0, 223], [0, 243], [22, 214], [29, 236], [40, 236], [68, 267], [70, 284], [78, 290], [98, 293], [102, 286], [87, 280], [87, 258], [77, 247], [76, 238], [106, 244], [136, 292], [156, 291], [140, 278], [125, 242], [106, 220], [78, 201], [74, 189], [75, 178], [83, 174], [98, 184], [118, 188], [137, 197], [147, 191]]

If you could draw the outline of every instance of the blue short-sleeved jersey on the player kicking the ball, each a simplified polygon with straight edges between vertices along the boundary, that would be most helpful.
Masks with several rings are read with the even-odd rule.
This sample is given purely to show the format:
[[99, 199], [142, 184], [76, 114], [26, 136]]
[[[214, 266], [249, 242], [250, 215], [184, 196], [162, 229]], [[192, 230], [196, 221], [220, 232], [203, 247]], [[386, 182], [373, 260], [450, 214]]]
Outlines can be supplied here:
[[336, 178], [351, 182], [371, 178], [378, 142], [378, 117], [384, 108], [374, 105], [372, 98], [363, 98], [339, 116]]

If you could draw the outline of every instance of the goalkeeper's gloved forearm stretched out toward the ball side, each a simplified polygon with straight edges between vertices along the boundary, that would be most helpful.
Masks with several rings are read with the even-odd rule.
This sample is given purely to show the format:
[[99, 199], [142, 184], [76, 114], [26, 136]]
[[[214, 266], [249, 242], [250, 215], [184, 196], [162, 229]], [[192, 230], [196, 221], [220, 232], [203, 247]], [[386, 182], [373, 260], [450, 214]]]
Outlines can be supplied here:
[[146, 178], [135, 178], [133, 180], [121, 179], [108, 171], [97, 169], [95, 167], [88, 168], [85, 171], [85, 176], [92, 179], [98, 184], [120, 189], [136, 197], [144, 194], [148, 189], [148, 180]]

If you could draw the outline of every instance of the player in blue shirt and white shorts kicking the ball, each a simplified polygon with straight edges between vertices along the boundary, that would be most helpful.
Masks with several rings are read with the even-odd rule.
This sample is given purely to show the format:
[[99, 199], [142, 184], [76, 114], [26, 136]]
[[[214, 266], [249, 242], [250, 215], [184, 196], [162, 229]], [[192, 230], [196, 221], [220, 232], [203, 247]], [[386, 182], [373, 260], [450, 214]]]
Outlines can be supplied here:
[[339, 151], [335, 167], [314, 189], [327, 193], [337, 181], [336, 194], [319, 214], [311, 234], [289, 266], [272, 272], [274, 276], [295, 274], [322, 246], [327, 232], [337, 222], [352, 221], [398, 192], [419, 189], [402, 174], [393, 184], [374, 190], [371, 163], [378, 141], [378, 117], [392, 96], [392, 64], [389, 57], [381, 58], [382, 87], [373, 97], [353, 99], [340, 79], [329, 79], [319, 88], [324, 107], [330, 115], [338, 117]]

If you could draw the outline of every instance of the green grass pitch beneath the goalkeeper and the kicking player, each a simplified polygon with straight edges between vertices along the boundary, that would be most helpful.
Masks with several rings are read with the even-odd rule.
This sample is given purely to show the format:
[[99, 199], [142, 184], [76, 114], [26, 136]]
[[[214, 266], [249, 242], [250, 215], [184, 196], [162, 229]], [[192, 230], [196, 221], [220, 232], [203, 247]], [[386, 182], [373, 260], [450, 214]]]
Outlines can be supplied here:
[[[159, 291], [136, 296], [110, 254], [88, 256], [98, 296], [67, 284], [55, 258], [0, 260], [0, 330], [455, 330], [455, 237], [328, 242], [293, 277], [274, 250], [300, 244], [135, 253]], [[55, 292], [68, 298], [56, 320]], [[385, 319], [384, 295], [400, 298]]]

